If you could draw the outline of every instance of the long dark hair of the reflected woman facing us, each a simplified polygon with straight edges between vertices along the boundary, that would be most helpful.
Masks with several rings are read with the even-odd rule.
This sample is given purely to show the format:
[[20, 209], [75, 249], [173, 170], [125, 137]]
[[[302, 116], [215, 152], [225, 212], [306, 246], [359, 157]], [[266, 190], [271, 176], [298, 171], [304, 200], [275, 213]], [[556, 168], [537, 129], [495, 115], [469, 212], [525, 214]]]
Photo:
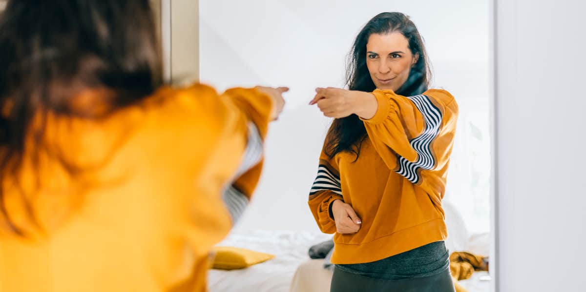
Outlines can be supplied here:
[[[366, 43], [374, 33], [382, 35], [393, 32], [403, 34], [409, 42], [411, 53], [419, 54], [419, 59], [411, 68], [407, 81], [396, 93], [413, 96], [427, 90], [431, 71], [423, 39], [411, 19], [400, 12], [383, 12], [374, 16], [356, 36], [346, 68], [346, 85], [349, 90], [372, 92], [376, 89], [366, 66]], [[324, 151], [330, 159], [340, 152], [351, 152], [356, 154], [356, 161], [365, 138], [364, 122], [357, 115], [335, 119], [326, 135]]]

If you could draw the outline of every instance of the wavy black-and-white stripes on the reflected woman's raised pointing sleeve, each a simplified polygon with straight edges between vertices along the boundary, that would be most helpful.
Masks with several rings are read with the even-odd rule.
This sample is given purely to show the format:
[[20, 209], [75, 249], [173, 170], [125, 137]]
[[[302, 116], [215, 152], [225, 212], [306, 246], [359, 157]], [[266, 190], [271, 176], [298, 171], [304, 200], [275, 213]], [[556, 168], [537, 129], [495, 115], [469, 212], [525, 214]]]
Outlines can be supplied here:
[[399, 168], [396, 171], [407, 178], [411, 183], [419, 183], [418, 170], [431, 170], [435, 166], [435, 157], [431, 152], [431, 143], [440, 133], [442, 114], [440, 109], [435, 107], [430, 98], [425, 95], [409, 97], [415, 107], [421, 112], [425, 121], [423, 133], [411, 140], [410, 144], [418, 154], [417, 161], [410, 162], [404, 157], [398, 157]]

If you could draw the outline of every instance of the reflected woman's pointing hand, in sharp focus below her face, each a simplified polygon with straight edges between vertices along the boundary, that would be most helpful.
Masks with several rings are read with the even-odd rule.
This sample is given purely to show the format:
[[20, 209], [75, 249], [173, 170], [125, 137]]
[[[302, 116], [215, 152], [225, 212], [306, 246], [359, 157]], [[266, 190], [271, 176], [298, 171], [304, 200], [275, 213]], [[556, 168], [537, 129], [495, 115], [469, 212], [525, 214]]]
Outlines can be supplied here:
[[310, 105], [317, 104], [323, 115], [330, 118], [345, 118], [356, 114], [360, 118], [370, 119], [379, 107], [373, 94], [363, 91], [341, 88], [316, 88]]

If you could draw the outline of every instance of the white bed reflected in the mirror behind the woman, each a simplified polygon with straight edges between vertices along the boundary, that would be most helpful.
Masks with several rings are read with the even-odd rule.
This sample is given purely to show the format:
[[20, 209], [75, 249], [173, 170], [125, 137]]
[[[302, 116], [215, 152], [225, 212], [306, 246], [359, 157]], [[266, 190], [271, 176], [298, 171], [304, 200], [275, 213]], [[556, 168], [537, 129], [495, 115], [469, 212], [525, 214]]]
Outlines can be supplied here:
[[[470, 235], [458, 213], [444, 205], [451, 251], [468, 250], [488, 254], [488, 233]], [[236, 246], [271, 253], [274, 259], [242, 270], [210, 270], [210, 292], [328, 292], [332, 272], [323, 269], [323, 259], [309, 259], [308, 249], [332, 235], [313, 232], [262, 231], [231, 233], [220, 246]], [[489, 276], [475, 272], [471, 279], [459, 281], [469, 292], [488, 292]]]

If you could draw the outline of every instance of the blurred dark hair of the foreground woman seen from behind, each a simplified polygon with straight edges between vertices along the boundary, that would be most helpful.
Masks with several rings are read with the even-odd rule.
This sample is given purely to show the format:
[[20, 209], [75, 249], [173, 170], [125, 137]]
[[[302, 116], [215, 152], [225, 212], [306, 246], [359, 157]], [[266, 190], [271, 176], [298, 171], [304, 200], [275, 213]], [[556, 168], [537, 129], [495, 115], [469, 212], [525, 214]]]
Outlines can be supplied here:
[[[12, 0], [0, 14], [0, 219], [15, 231], [2, 182], [21, 167], [25, 139], [47, 112], [98, 118], [72, 99], [107, 90], [107, 112], [151, 95], [162, 84], [161, 51], [148, 0]], [[38, 151], [42, 143], [35, 145]], [[63, 159], [60, 159], [63, 161]]]

